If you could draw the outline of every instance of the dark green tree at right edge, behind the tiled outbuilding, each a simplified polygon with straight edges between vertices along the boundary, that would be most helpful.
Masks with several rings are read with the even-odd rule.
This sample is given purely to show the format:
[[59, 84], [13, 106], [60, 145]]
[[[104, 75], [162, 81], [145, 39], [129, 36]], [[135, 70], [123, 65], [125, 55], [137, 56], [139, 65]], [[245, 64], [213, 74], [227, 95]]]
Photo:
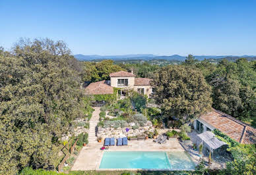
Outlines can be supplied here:
[[207, 78], [213, 89], [213, 107], [251, 124], [256, 117], [253, 64], [246, 59], [236, 63], [224, 59]]

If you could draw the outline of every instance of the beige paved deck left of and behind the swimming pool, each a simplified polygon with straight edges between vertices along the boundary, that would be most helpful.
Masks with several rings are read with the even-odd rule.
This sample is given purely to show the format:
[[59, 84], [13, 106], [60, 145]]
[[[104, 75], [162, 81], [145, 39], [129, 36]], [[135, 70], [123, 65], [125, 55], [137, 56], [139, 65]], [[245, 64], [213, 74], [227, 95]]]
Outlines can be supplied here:
[[[113, 170], [99, 169], [104, 151], [100, 150], [103, 143], [89, 143], [82, 147], [79, 157], [71, 170]], [[128, 141], [127, 146], [111, 146], [108, 151], [185, 151], [177, 139], [169, 139], [164, 144], [155, 143], [153, 139]], [[124, 170], [124, 169], [122, 169]]]

